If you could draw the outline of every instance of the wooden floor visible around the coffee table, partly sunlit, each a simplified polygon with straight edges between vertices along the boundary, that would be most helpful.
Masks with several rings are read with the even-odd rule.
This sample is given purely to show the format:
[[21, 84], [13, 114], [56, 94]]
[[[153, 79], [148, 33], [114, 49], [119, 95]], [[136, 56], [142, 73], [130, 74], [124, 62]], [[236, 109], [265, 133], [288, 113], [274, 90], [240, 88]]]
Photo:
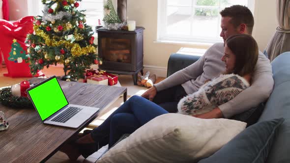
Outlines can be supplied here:
[[[10, 78], [4, 77], [3, 74], [7, 73], [7, 69], [5, 67], [0, 66], [0, 87], [10, 86], [12, 84], [19, 83], [24, 80], [28, 80], [30, 78]], [[63, 70], [61, 66], [50, 67], [49, 69], [45, 68], [43, 73], [47, 76], [62, 76]], [[158, 77], [156, 82], [162, 81], [164, 78]], [[133, 95], [141, 95], [146, 91], [146, 87], [141, 87], [133, 84], [132, 76], [130, 75], [119, 75], [118, 81], [121, 86], [127, 87], [128, 90], [128, 98]], [[115, 111], [119, 106], [123, 104], [123, 98], [120, 97], [114, 104], [112, 104], [108, 109], [104, 109], [100, 112], [100, 115], [91, 123], [91, 126], [97, 126], [101, 124], [113, 111]], [[85, 129], [92, 129], [91, 127]], [[84, 129], [84, 130], [85, 130]], [[8, 129], [9, 130], [9, 129]], [[84, 159], [80, 156], [77, 161], [71, 162], [68, 157], [62, 153], [57, 152], [54, 156], [52, 156], [46, 163], [94, 163], [100, 155], [107, 149], [108, 147], [105, 146], [101, 148], [98, 152], [95, 152], [87, 159]]]

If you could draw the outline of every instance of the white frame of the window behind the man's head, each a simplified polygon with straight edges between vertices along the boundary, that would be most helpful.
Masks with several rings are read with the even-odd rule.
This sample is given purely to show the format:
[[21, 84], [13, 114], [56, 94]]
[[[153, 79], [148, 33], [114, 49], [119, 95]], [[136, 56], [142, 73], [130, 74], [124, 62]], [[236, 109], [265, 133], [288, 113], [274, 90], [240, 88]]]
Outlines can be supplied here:
[[[186, 44], [212, 44], [216, 42], [223, 42], [217, 33], [216, 37], [197, 37], [191, 35], [183, 36], [183, 35], [174, 35], [174, 34], [166, 34], [167, 28], [167, 0], [158, 0], [158, 11], [157, 11], [157, 41], [156, 42], [171, 42], [171, 43], [186, 43]], [[171, 6], [181, 6], [181, 7], [192, 7], [192, 8], [209, 8], [209, 9], [220, 9], [220, 6], [201, 6], [201, 5], [171, 5]], [[254, 15], [254, 6], [255, 0], [248, 0], [248, 8], [251, 10]], [[223, 9], [223, 8], [221, 8]], [[216, 24], [216, 28], [220, 30], [220, 20], [221, 16], [218, 14], [219, 22]], [[191, 29], [192, 33], [192, 29]]]

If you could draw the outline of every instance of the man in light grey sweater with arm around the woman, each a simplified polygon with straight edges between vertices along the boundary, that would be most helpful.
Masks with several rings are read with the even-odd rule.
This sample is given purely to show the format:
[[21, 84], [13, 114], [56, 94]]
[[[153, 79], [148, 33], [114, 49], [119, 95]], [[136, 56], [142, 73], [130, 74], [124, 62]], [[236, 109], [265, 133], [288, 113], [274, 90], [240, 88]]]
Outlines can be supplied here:
[[[233, 5], [222, 10], [220, 14], [222, 16], [220, 36], [223, 37], [224, 42], [234, 34], [252, 34], [254, 17], [247, 7]], [[176, 112], [177, 104], [182, 97], [196, 92], [206, 80], [215, 78], [225, 71], [224, 62], [221, 61], [223, 54], [224, 44], [214, 44], [198, 61], [153, 85], [142, 97], [153, 101], [169, 112]], [[270, 61], [259, 52], [251, 86], [228, 103], [218, 106], [210, 112], [195, 116], [230, 118], [232, 115], [256, 107], [265, 101], [272, 92], [273, 84]]]

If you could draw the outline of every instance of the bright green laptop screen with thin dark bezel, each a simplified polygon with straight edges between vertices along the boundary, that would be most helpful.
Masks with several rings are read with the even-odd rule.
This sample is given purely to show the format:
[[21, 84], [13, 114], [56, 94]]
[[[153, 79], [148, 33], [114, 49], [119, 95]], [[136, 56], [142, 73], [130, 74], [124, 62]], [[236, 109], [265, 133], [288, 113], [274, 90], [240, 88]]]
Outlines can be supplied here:
[[42, 120], [68, 104], [55, 77], [32, 88], [28, 93]]

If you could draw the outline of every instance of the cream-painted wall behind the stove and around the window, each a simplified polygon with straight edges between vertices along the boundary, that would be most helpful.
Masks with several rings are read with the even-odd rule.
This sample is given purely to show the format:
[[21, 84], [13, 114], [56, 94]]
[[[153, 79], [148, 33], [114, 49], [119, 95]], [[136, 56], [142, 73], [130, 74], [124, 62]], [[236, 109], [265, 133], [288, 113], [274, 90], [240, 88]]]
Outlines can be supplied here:
[[[27, 16], [28, 0], [9, 0], [10, 19], [18, 20]], [[113, 2], [114, 4], [116, 3]], [[166, 76], [167, 61], [170, 54], [180, 47], [203, 48], [208, 46], [154, 43], [157, 37], [157, 0], [127, 0], [128, 20], [135, 20], [144, 31], [144, 65], [145, 70], [154, 71], [158, 76]], [[277, 27], [276, 0], [255, 0], [255, 27], [253, 36], [263, 51]]]

